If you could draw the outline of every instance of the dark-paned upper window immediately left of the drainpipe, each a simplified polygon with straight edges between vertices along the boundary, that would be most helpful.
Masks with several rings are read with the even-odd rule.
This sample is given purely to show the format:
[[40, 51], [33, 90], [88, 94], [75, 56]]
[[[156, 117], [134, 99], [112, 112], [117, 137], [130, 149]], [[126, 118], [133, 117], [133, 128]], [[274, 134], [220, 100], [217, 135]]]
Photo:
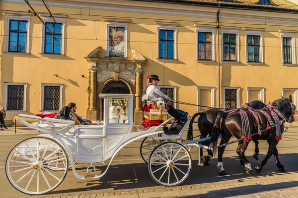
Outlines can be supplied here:
[[199, 32], [199, 60], [211, 60], [212, 33]]

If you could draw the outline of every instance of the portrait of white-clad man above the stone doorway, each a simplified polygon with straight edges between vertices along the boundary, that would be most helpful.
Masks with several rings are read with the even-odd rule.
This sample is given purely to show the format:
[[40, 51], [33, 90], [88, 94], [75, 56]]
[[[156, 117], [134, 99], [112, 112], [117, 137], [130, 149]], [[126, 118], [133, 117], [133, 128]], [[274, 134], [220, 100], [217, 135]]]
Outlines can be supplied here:
[[124, 28], [110, 27], [109, 56], [124, 56]]

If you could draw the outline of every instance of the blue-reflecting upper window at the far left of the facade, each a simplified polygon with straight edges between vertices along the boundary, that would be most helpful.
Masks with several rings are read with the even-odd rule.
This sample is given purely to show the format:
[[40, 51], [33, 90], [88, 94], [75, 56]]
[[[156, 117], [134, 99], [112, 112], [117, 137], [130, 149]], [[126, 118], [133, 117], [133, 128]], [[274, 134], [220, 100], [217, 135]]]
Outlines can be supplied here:
[[9, 20], [8, 51], [26, 52], [27, 21]]

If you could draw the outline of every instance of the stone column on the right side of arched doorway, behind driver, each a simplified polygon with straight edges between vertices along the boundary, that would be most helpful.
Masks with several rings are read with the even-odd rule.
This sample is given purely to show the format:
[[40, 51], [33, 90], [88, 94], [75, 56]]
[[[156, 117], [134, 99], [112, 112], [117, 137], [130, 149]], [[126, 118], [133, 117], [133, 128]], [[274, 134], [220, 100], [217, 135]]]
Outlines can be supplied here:
[[135, 125], [140, 125], [143, 121], [143, 111], [142, 111], [142, 93], [143, 93], [143, 62], [137, 62], [136, 68], [136, 109], [135, 109]]

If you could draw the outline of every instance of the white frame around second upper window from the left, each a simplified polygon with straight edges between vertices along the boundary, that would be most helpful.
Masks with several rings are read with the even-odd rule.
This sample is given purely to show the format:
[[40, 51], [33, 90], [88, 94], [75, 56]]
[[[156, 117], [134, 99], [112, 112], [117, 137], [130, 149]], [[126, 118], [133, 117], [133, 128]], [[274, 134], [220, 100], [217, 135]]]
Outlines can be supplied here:
[[[62, 23], [62, 27], [61, 27], [61, 53], [45, 53], [46, 27], [44, 26], [44, 24], [42, 24], [42, 39], [41, 39], [41, 54], [42, 55], [49, 55], [49, 56], [65, 55], [65, 45], [64, 45], [65, 18], [55, 17], [55, 20], [56, 20], [57, 23]], [[43, 22], [44, 23], [53, 23], [53, 24], [55, 24], [55, 21], [51, 17], [45, 17], [45, 16], [43, 16]], [[53, 44], [53, 46], [54, 46], [54, 44]]]

